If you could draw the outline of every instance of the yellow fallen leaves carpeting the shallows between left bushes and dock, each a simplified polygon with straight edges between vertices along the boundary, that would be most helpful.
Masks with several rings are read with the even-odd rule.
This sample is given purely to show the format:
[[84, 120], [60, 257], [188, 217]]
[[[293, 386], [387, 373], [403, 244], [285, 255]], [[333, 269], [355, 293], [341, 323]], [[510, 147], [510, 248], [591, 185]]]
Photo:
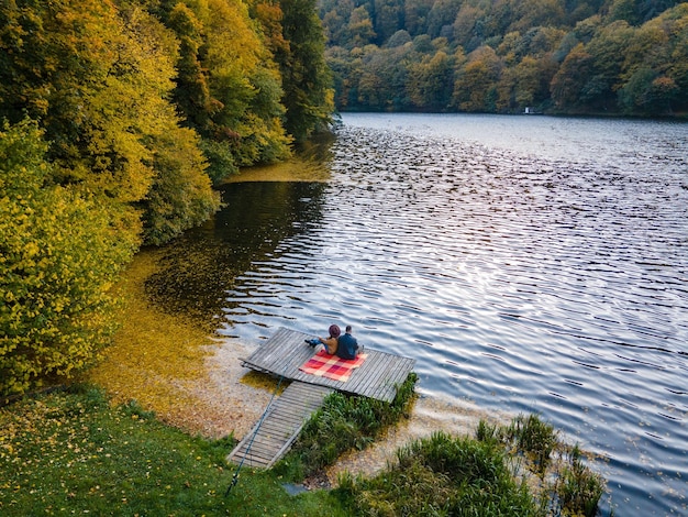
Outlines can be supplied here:
[[197, 383], [206, 375], [209, 334], [182, 315], [170, 315], [148, 301], [145, 278], [156, 271], [155, 253], [132, 263], [121, 289], [126, 299], [114, 344], [89, 382], [103, 386], [114, 404], [137, 400], [164, 421], [188, 431], [202, 430], [206, 404]]

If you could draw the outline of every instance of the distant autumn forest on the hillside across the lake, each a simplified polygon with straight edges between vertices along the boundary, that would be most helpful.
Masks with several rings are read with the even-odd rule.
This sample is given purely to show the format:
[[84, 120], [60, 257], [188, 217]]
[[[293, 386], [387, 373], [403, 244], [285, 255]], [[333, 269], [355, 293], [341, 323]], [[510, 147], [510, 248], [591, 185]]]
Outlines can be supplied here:
[[688, 3], [319, 0], [341, 111], [686, 117]]

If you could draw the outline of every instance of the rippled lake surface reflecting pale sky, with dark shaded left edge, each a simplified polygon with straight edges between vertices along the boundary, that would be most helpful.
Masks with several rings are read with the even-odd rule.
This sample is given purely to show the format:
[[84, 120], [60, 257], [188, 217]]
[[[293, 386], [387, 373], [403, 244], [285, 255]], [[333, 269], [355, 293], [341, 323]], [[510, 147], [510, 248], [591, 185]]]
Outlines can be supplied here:
[[229, 185], [151, 288], [254, 342], [352, 323], [423, 392], [540, 413], [604, 457], [615, 515], [687, 515], [687, 139], [347, 114], [328, 183]]

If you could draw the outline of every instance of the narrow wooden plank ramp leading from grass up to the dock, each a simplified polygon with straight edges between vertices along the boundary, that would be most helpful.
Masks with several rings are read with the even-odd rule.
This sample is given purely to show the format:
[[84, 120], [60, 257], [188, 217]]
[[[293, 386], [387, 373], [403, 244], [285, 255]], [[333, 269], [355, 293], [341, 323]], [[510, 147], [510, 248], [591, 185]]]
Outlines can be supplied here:
[[230, 453], [228, 460], [247, 466], [269, 469], [287, 453], [301, 428], [332, 393], [325, 386], [291, 383], [273, 400], [267, 413]]

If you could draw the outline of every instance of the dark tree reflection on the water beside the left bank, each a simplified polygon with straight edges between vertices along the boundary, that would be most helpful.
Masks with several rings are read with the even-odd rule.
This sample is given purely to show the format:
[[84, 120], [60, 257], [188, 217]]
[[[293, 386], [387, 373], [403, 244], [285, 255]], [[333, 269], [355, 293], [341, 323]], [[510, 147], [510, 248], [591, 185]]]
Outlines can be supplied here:
[[147, 280], [153, 299], [169, 310], [197, 316], [222, 314], [225, 293], [243, 282], [252, 264], [274, 256], [284, 239], [303, 233], [301, 221], [321, 218], [321, 183], [251, 183], [226, 187], [225, 208], [214, 220], [166, 249], [159, 273]]

